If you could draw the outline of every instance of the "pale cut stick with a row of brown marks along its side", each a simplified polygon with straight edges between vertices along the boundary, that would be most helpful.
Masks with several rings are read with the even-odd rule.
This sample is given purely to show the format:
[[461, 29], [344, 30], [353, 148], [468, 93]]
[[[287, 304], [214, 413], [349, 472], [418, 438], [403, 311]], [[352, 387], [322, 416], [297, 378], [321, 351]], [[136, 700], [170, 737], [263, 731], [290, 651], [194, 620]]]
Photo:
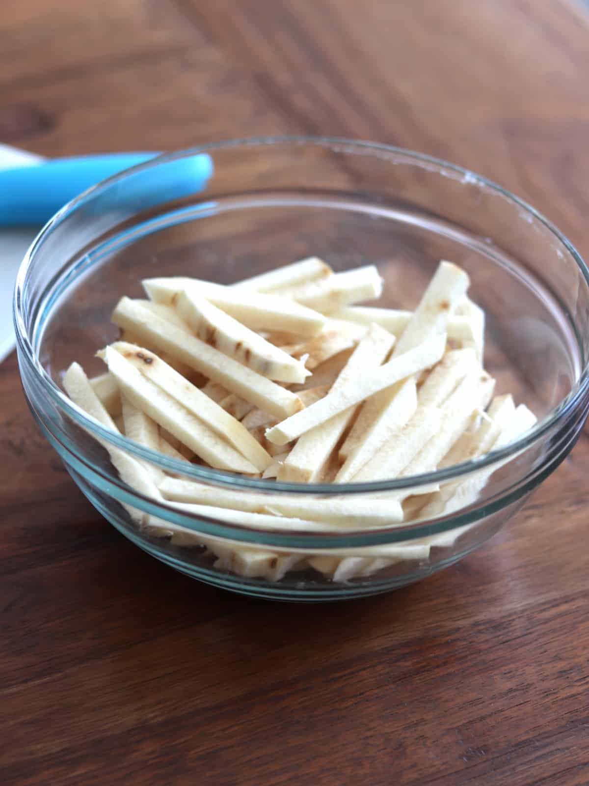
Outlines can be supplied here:
[[259, 374], [279, 382], [298, 383], [309, 376], [301, 362], [196, 293], [180, 292], [176, 308], [199, 339]]

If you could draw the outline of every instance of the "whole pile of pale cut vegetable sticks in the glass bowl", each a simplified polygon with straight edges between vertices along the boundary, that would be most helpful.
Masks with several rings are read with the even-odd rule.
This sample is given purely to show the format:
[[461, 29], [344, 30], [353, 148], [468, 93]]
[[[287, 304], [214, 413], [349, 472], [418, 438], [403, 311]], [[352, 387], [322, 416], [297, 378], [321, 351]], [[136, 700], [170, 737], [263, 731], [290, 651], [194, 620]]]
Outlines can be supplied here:
[[[415, 311], [378, 299], [375, 266], [334, 273], [304, 259], [222, 286], [195, 278], [143, 281], [123, 297], [120, 340], [89, 380], [73, 363], [70, 398], [114, 432], [180, 461], [302, 483], [409, 477], [481, 456], [536, 422], [511, 395], [493, 398], [482, 365], [485, 315], [466, 273], [442, 262]], [[237, 491], [174, 476], [104, 443], [121, 478], [183, 512], [273, 531], [350, 531], [447, 515], [471, 505], [490, 472], [419, 494], [313, 496]], [[196, 534], [128, 509], [149, 534], [203, 545], [221, 570], [270, 580], [312, 567], [335, 581], [400, 560], [426, 560], [453, 531], [407, 545], [294, 553]]]

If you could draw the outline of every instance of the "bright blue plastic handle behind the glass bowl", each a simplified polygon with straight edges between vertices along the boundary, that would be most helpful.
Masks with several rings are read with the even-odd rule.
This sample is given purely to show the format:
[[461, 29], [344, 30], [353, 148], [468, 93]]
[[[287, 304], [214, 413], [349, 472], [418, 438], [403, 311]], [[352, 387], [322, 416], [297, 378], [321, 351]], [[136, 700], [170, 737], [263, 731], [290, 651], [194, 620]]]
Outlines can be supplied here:
[[[0, 226], [39, 226], [79, 193], [138, 163], [155, 152], [123, 152], [97, 156], [75, 156], [0, 169]], [[210, 156], [199, 154], [163, 164], [163, 184], [174, 185], [174, 196], [199, 191], [213, 171]], [[141, 194], [141, 207], [156, 204], [158, 168]], [[174, 177], [170, 179], [170, 174]], [[144, 183], [145, 185], [145, 183]], [[161, 196], [161, 194], [159, 195]]]

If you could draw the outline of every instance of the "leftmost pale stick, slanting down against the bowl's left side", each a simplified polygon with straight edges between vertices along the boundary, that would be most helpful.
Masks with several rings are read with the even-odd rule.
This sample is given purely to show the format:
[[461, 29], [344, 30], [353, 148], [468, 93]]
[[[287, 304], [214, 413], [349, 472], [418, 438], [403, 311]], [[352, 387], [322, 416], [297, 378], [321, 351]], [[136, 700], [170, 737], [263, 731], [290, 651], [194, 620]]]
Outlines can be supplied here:
[[[119, 433], [119, 429], [115, 426], [112, 417], [104, 409], [104, 406], [102, 406], [101, 401], [93, 391], [90, 380], [88, 380], [86, 373], [79, 363], [72, 363], [70, 365], [68, 371], [65, 373], [63, 384], [70, 399], [77, 404], [81, 410], [90, 417], [93, 417], [94, 420], [102, 424], [105, 428], [109, 428], [112, 432]], [[134, 490], [138, 491], [140, 494], [144, 494], [146, 497], [163, 500], [158, 487], [155, 486], [152, 480], [152, 476], [150, 476], [148, 472], [145, 472], [145, 465], [141, 461], [138, 461], [129, 454], [126, 454], [124, 450], [120, 450], [118, 447], [110, 445], [100, 438], [97, 438], [97, 442], [108, 450], [112, 464], [116, 471], [119, 472], [119, 476], [124, 483], [127, 483], [130, 487], [134, 488]], [[126, 503], [121, 504], [124, 509], [126, 509], [126, 512], [129, 513], [131, 519], [140, 527], [144, 527], [152, 519], [152, 516], [149, 516], [148, 513], [134, 508], [131, 505], [126, 505]]]

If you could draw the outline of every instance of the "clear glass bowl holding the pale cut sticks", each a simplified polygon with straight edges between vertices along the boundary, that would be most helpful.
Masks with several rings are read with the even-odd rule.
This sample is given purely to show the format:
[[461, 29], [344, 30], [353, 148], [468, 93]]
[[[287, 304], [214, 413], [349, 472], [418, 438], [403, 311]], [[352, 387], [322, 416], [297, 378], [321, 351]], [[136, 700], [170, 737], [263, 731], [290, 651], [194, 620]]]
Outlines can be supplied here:
[[[202, 152], [213, 160], [214, 174], [195, 191], [191, 160]], [[386, 282], [379, 305], [402, 308], [415, 306], [440, 259], [463, 266], [470, 294], [488, 318], [485, 367], [496, 376], [497, 392], [512, 392], [532, 408], [536, 427], [518, 443], [442, 472], [305, 486], [196, 465], [186, 470], [101, 428], [61, 391], [73, 360], [89, 375], [104, 371], [94, 353], [118, 335], [109, 321], [112, 308], [123, 294], [141, 296], [142, 278], [192, 275], [229, 283], [309, 255], [324, 257], [335, 270], [375, 263]], [[565, 458], [583, 427], [588, 319], [587, 267], [528, 205], [452, 164], [337, 139], [210, 145], [162, 156], [97, 185], [39, 235], [15, 296], [20, 373], [31, 412], [104, 517], [141, 549], [195, 578], [301, 601], [415, 582], [496, 533]], [[474, 504], [434, 520], [343, 533], [256, 531], [142, 497], [121, 481], [96, 437], [216, 487], [219, 498], [228, 490], [260, 498], [269, 492], [386, 498], [475, 470], [485, 469], [490, 479]], [[352, 569], [330, 578], [322, 566], [344, 558], [353, 560], [346, 563]]]

